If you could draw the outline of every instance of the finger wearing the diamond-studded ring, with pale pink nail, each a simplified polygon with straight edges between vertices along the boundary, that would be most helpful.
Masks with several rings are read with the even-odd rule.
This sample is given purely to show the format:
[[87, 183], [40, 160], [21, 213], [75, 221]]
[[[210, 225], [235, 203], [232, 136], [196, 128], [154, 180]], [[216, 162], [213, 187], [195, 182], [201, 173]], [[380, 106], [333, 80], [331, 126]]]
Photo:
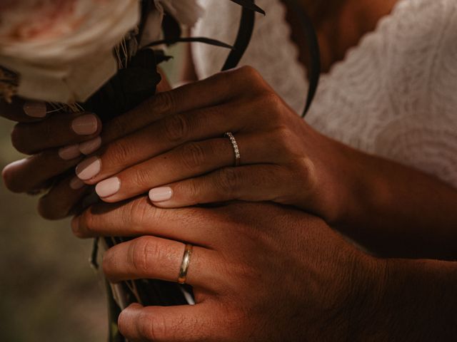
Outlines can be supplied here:
[[[237, 135], [236, 140], [243, 162], [273, 163], [281, 159], [275, 147], [268, 145], [268, 134]], [[228, 138], [189, 142], [99, 182], [96, 192], [105, 202], [118, 202], [159, 185], [231, 166], [234, 162], [234, 147]]]

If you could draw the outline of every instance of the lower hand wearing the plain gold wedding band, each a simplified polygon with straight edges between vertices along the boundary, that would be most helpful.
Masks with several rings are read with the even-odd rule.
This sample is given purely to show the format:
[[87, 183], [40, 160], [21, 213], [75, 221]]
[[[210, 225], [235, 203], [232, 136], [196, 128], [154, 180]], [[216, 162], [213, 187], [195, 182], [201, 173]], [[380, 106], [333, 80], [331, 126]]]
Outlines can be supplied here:
[[194, 245], [186, 282], [196, 305], [129, 306], [119, 318], [129, 341], [343, 341], [351, 312], [371, 304], [383, 279], [382, 261], [277, 204], [161, 209], [141, 197], [96, 204], [72, 227], [84, 238], [138, 237], [104, 255], [114, 283], [177, 281], [185, 244]]

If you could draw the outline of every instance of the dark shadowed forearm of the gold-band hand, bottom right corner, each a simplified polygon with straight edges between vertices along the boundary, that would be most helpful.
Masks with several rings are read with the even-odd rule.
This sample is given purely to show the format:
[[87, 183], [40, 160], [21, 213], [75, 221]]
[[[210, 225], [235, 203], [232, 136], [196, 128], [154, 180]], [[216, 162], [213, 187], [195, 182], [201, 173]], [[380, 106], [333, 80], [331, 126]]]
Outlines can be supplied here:
[[384, 279], [381, 294], [353, 315], [350, 341], [454, 341], [456, 262], [391, 259]]

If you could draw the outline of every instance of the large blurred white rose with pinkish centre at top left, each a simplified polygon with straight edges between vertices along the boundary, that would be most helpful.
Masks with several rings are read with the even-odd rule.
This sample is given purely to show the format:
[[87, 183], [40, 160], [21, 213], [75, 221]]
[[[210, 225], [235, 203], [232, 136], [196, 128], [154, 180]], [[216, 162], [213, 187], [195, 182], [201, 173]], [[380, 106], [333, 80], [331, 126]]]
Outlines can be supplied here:
[[139, 18], [139, 0], [1, 0], [0, 66], [25, 98], [84, 102], [116, 73], [112, 50]]

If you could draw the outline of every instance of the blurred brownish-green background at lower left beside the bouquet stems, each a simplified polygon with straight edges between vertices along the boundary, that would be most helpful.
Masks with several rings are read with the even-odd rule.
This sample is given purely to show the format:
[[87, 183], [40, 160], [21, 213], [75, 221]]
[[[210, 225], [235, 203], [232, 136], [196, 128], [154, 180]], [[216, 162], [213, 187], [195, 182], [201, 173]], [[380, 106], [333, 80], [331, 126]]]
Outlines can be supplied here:
[[[172, 82], [178, 59], [164, 65]], [[0, 118], [1, 169], [24, 157], [11, 147], [13, 127]], [[0, 341], [106, 341], [104, 281], [89, 266], [92, 242], [76, 239], [68, 219], [41, 219], [36, 203], [0, 181]]]

